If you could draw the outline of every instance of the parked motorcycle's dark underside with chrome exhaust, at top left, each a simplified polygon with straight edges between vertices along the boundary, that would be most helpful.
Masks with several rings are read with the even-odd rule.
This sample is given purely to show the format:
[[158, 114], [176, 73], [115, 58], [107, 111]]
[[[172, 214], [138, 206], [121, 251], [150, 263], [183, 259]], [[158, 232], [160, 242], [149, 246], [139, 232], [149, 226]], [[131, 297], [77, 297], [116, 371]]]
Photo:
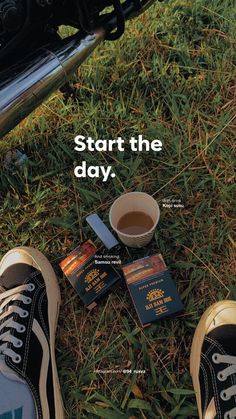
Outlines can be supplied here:
[[[155, 0], [0, 0], [0, 138]], [[61, 39], [60, 25], [76, 28]]]

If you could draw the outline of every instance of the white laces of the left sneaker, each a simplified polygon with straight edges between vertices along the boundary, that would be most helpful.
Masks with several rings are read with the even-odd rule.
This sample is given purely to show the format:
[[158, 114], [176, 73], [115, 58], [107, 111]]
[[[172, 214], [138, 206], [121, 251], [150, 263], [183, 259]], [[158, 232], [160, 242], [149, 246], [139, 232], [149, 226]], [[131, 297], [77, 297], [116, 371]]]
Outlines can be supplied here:
[[[14, 348], [20, 348], [23, 345], [23, 342], [21, 339], [13, 336], [12, 331], [15, 329], [18, 333], [24, 333], [26, 330], [24, 325], [14, 320], [14, 314], [16, 313], [20, 318], [25, 318], [29, 315], [27, 310], [14, 304], [14, 302], [20, 301], [23, 304], [30, 304], [32, 299], [23, 295], [23, 292], [32, 292], [34, 288], [35, 285], [29, 283], [0, 294], [0, 356], [7, 355], [14, 363], [19, 363], [21, 357], [15, 350], [9, 348], [9, 343], [12, 343]], [[13, 304], [9, 304], [12, 302]], [[4, 331], [5, 329], [7, 330]]]

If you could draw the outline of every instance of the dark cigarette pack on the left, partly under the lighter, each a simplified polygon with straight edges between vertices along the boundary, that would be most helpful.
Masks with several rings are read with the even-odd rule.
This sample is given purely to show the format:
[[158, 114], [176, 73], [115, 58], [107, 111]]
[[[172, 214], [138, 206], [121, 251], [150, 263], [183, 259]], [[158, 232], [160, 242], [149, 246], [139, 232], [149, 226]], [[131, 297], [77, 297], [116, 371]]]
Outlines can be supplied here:
[[73, 250], [60, 263], [60, 267], [83, 303], [89, 308], [120, 279], [111, 264], [97, 264], [97, 247], [87, 240]]

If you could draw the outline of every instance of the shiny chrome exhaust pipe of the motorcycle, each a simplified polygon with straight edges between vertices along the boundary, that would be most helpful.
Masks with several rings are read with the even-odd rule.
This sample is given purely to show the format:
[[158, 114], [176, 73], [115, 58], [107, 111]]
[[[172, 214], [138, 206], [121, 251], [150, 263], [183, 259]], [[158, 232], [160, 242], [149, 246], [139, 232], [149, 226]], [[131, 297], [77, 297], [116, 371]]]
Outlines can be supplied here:
[[0, 73], [0, 138], [62, 87], [104, 36], [102, 30], [84, 39], [74, 36]]

